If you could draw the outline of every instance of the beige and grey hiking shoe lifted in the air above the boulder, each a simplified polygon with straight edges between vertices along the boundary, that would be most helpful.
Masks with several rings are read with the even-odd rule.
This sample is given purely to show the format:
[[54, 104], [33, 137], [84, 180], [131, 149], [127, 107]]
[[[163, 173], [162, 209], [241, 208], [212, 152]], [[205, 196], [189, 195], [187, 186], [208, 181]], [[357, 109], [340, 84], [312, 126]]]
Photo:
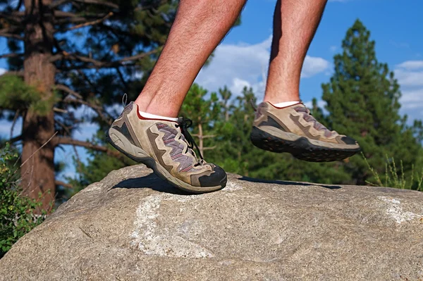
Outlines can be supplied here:
[[284, 108], [259, 104], [250, 138], [260, 149], [288, 152], [310, 162], [342, 160], [361, 150], [355, 139], [317, 122], [301, 102]]

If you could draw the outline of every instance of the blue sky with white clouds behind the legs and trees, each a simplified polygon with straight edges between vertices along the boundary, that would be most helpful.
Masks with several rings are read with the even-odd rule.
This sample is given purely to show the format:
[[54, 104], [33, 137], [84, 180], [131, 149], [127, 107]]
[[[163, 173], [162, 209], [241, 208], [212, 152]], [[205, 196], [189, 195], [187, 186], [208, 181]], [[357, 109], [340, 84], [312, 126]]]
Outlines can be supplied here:
[[[258, 96], [264, 89], [263, 76], [269, 61], [272, 16], [276, 0], [250, 0], [243, 10], [242, 24], [235, 27], [215, 51], [212, 63], [201, 70], [196, 82], [210, 91], [227, 85], [234, 94], [244, 86], [253, 87]], [[421, 0], [329, 0], [307, 54], [300, 86], [303, 101], [321, 99], [321, 83], [333, 72], [333, 55], [341, 51], [345, 32], [359, 18], [376, 41], [376, 56], [388, 63], [400, 82], [402, 113], [423, 119], [423, 1]], [[0, 54], [7, 52], [0, 39]], [[6, 61], [0, 60], [1, 68]], [[20, 132], [20, 124], [15, 134]], [[83, 125], [75, 138], [87, 139], [96, 130]], [[0, 122], [1, 137], [10, 134], [10, 123]], [[69, 159], [72, 149], [56, 152], [56, 159]], [[85, 157], [83, 149], [80, 156]], [[66, 174], [72, 175], [72, 165]]]

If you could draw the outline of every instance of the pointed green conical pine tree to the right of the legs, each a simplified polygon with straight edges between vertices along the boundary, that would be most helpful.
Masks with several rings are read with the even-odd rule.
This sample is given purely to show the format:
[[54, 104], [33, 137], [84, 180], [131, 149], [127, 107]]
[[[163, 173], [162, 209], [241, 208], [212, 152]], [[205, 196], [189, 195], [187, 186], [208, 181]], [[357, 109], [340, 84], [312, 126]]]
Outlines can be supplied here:
[[[343, 40], [342, 54], [334, 57], [331, 81], [322, 85], [329, 125], [357, 139], [377, 173], [385, 173], [386, 156], [403, 161], [404, 170], [410, 173], [422, 146], [407, 127], [407, 116], [398, 113], [400, 87], [388, 65], [377, 60], [374, 45], [369, 30], [357, 20]], [[361, 156], [350, 158], [345, 168], [359, 185], [372, 180]]]

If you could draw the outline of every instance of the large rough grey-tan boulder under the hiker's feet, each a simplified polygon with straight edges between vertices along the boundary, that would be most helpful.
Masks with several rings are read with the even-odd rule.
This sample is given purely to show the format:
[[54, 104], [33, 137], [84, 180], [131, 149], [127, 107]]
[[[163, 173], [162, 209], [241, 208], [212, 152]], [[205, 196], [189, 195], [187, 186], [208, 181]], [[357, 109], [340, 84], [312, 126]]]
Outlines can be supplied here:
[[188, 195], [111, 172], [0, 260], [0, 280], [422, 280], [423, 192], [228, 176]]

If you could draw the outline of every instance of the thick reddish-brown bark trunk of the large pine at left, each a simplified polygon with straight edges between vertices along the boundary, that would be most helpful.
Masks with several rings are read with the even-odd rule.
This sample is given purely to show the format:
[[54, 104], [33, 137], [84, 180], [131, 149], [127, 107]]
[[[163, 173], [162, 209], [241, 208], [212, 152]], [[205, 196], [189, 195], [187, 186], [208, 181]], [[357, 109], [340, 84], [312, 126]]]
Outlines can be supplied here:
[[[56, 67], [50, 63], [53, 52], [54, 27], [48, 8], [51, 0], [25, 0], [25, 61], [24, 79], [41, 94], [42, 100], [51, 99]], [[46, 15], [47, 14], [47, 15]], [[27, 111], [22, 129], [21, 168], [23, 193], [34, 199], [42, 195], [42, 207], [51, 210], [54, 204], [54, 143], [47, 142], [54, 135], [54, 112], [47, 114]], [[47, 143], [47, 144], [46, 144]], [[45, 144], [43, 147], [42, 145]], [[42, 147], [42, 148], [41, 148]]]

